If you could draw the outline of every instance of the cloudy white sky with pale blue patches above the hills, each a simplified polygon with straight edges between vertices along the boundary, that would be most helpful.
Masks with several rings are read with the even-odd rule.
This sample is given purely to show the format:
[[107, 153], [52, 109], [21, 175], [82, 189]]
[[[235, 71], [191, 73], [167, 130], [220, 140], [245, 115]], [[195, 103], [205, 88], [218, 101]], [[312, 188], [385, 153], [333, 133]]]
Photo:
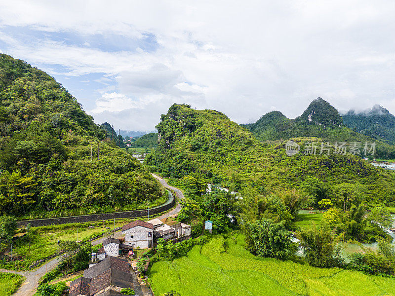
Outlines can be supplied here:
[[115, 129], [152, 131], [173, 104], [250, 123], [395, 113], [394, 0], [0, 0], [0, 52], [55, 77]]

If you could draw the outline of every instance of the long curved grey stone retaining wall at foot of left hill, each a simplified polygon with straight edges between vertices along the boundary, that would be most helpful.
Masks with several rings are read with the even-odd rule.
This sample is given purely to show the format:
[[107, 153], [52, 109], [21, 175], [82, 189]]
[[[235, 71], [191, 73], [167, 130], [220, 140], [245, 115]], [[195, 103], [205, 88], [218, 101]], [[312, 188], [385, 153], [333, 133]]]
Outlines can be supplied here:
[[60, 218], [48, 218], [48, 219], [38, 219], [38, 220], [21, 220], [18, 221], [18, 227], [25, 227], [30, 223], [32, 227], [46, 226], [51, 224], [65, 224], [65, 223], [83, 223], [83, 222], [93, 222], [111, 219], [123, 219], [123, 218], [138, 218], [146, 217], [148, 213], [151, 215], [157, 215], [162, 212], [166, 212], [173, 208], [176, 204], [176, 199], [169, 192], [169, 199], [162, 205], [146, 210], [135, 210], [127, 212], [116, 212], [116, 213], [106, 213], [106, 214], [93, 214], [93, 215], [83, 215], [83, 216], [71, 216], [71, 217], [60, 217]]

